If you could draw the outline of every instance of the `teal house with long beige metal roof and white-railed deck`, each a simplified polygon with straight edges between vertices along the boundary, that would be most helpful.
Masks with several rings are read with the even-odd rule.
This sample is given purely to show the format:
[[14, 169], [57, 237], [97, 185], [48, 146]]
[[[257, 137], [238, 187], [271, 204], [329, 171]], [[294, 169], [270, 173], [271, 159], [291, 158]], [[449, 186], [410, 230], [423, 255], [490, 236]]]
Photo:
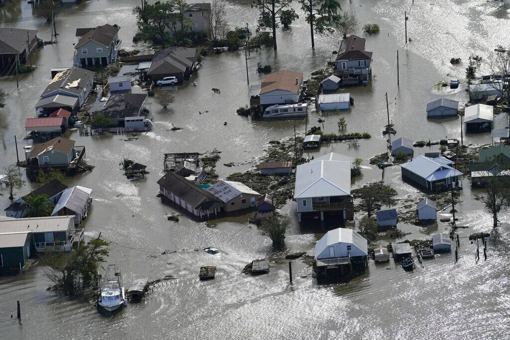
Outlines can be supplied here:
[[[30, 253], [60, 248], [70, 251], [74, 242], [83, 238], [83, 229], [74, 229], [74, 216], [0, 219], [0, 234], [32, 234]], [[20, 241], [19, 241], [20, 242]]]

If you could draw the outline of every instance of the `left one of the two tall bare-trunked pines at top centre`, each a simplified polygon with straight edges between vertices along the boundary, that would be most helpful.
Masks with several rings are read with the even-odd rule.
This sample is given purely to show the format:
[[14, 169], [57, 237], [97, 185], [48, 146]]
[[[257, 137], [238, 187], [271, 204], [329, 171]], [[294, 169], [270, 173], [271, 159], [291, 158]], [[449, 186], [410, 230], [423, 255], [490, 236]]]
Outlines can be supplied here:
[[288, 9], [292, 0], [257, 0], [255, 6], [261, 11], [259, 29], [269, 28], [273, 31], [273, 48], [276, 50], [276, 29], [283, 23], [286, 27], [299, 18], [294, 9]]

